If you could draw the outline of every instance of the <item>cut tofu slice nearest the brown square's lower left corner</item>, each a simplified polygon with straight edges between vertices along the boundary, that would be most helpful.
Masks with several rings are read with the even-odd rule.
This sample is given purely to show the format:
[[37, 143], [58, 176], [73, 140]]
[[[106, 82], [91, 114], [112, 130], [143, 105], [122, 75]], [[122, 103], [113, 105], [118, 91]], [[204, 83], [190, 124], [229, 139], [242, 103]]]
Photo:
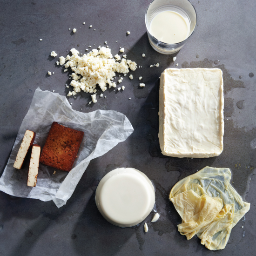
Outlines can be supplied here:
[[40, 146], [37, 144], [34, 144], [32, 146], [31, 158], [30, 158], [28, 174], [27, 174], [27, 186], [28, 187], [36, 186], [40, 152], [41, 152]]

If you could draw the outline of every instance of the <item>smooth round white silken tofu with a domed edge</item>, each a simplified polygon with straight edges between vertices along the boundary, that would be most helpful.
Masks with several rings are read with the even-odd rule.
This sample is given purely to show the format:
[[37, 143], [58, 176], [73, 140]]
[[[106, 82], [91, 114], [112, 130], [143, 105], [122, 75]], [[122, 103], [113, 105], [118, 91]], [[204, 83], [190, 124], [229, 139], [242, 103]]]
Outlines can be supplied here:
[[155, 205], [155, 189], [148, 177], [135, 168], [117, 168], [105, 175], [95, 195], [102, 216], [119, 227], [142, 222]]

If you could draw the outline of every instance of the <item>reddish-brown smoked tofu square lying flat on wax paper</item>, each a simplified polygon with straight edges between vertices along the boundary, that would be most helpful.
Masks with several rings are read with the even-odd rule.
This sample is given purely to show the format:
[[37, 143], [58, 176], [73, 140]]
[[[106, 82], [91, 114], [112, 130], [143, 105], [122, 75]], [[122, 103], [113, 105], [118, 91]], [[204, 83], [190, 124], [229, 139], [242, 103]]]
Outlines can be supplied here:
[[53, 122], [40, 156], [40, 163], [70, 171], [84, 132]]

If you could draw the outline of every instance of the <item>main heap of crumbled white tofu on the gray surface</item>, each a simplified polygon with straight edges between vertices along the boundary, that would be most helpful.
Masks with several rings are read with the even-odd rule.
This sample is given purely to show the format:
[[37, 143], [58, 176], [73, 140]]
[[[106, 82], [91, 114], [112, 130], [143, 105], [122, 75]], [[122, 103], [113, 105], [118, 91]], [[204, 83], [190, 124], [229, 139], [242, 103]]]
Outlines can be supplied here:
[[[69, 79], [72, 79], [70, 85], [73, 87], [74, 91], [72, 94], [68, 94], [68, 96], [75, 95], [80, 91], [95, 93], [97, 91], [97, 85], [99, 85], [102, 92], [106, 91], [107, 87], [115, 88], [116, 83], [112, 82], [114, 77], [116, 77], [115, 72], [127, 74], [129, 68], [131, 70], [137, 68], [135, 62], [126, 60], [125, 58], [120, 58], [121, 62], [117, 62], [115, 58], [113, 58], [111, 50], [106, 47], [93, 49], [88, 54], [83, 54], [82, 56], [74, 48], [70, 51], [72, 53], [71, 56], [67, 55], [66, 58], [60, 57], [60, 64], [65, 64], [64, 71], [66, 71], [68, 67], [70, 67], [72, 71]], [[117, 56], [119, 55], [117, 54]], [[123, 77], [119, 79], [119, 83], [121, 83], [122, 80]]]

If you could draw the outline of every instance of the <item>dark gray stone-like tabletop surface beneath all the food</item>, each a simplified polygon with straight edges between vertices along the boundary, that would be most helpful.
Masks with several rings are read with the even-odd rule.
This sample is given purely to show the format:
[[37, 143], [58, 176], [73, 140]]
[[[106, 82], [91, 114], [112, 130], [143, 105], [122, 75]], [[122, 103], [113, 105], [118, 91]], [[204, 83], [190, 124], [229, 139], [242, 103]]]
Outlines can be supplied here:
[[[133, 72], [132, 81], [128, 77], [123, 80], [123, 92], [108, 90], [106, 99], [90, 106], [90, 95], [85, 93], [68, 99], [74, 109], [82, 108], [82, 112], [119, 111], [127, 115], [135, 131], [89, 164], [73, 196], [60, 209], [53, 202], [0, 192], [1, 256], [256, 255], [256, 149], [253, 143], [251, 146], [256, 138], [256, 2], [192, 0], [198, 26], [175, 54], [178, 67], [220, 67], [224, 74], [224, 151], [209, 159], [176, 159], [160, 152], [158, 77], [174, 63], [173, 56], [156, 53], [148, 43], [144, 13], [149, 2], [0, 1], [0, 174], [34, 90], [40, 87], [61, 95], [68, 92], [68, 74], [55, 65], [49, 56], [51, 51], [61, 56], [75, 47], [84, 53], [89, 45], [94, 48], [94, 44], [98, 47], [107, 41], [114, 54], [124, 47], [128, 59], [142, 66]], [[76, 28], [77, 32], [73, 34], [68, 28]], [[127, 31], [131, 32], [128, 36]], [[157, 62], [159, 67], [149, 68]], [[48, 76], [47, 71], [54, 75]], [[249, 73], [255, 76], [249, 77]], [[138, 88], [141, 75], [146, 84], [143, 89]], [[168, 200], [168, 193], [178, 180], [206, 165], [230, 168], [233, 186], [251, 203], [245, 219], [232, 229], [229, 243], [220, 251], [206, 249], [198, 238], [188, 241], [181, 236], [176, 227], [181, 219]], [[142, 225], [126, 229], [113, 226], [96, 208], [96, 186], [103, 175], [116, 167], [137, 168], [155, 183], [161, 218], [148, 222], [147, 234]], [[152, 216], [153, 213], [146, 221]]]

